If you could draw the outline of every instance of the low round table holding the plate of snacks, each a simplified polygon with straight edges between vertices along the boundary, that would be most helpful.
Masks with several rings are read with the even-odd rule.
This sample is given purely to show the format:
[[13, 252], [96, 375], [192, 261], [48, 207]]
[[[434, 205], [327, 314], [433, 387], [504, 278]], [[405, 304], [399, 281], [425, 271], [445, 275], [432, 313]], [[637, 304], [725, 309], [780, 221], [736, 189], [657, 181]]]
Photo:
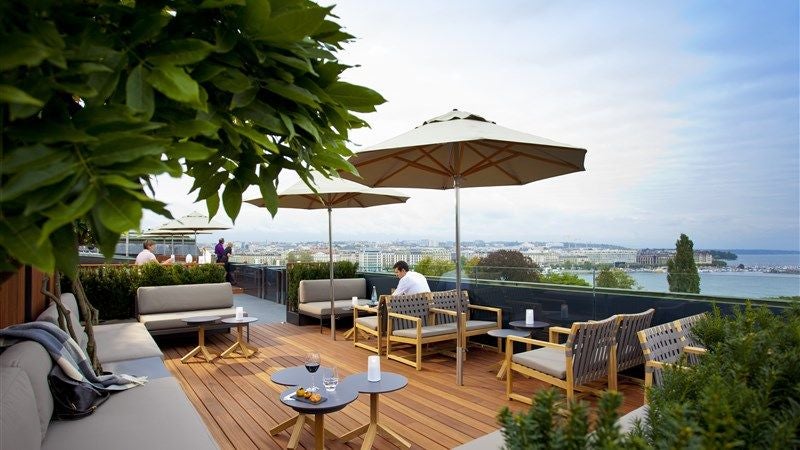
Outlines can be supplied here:
[[[314, 415], [314, 448], [317, 450], [325, 448], [325, 435], [330, 434], [330, 432], [325, 429], [325, 414], [339, 411], [358, 398], [358, 391], [347, 386], [342, 386], [341, 384], [337, 386], [336, 390], [333, 392], [320, 392], [320, 395], [326, 397], [326, 400], [316, 405], [296, 400], [294, 398], [294, 393], [295, 388], [293, 387], [281, 392], [281, 402], [299, 413], [295, 430], [302, 429], [306, 419], [308, 419], [310, 415]], [[295, 433], [293, 432], [292, 439], [294, 439], [294, 436]], [[297, 437], [299, 439], [299, 432], [297, 432]], [[289, 441], [288, 448], [294, 448], [296, 446], [296, 442], [292, 445], [292, 442]]]

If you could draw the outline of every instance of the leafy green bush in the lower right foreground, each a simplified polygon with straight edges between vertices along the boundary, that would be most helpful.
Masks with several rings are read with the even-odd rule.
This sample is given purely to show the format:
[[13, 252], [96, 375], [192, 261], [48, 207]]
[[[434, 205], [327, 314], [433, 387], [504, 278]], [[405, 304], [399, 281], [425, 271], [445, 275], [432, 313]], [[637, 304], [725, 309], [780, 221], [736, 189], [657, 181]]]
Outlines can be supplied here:
[[689, 369], [667, 369], [648, 393], [646, 427], [622, 435], [613, 426], [618, 394], [601, 397], [595, 430], [584, 407], [555, 414], [554, 394], [539, 392], [530, 411], [500, 413], [506, 447], [800, 448], [800, 306], [781, 315], [766, 307], [715, 309], [693, 328], [708, 349]]

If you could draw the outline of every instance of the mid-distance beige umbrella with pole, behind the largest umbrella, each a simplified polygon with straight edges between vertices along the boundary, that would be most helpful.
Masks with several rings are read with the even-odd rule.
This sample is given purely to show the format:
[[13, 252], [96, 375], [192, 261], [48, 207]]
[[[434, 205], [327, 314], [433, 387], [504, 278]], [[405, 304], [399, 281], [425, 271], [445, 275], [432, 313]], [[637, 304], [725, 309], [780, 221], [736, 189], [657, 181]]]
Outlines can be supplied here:
[[[333, 208], [368, 208], [370, 206], [404, 203], [408, 196], [394, 189], [372, 189], [363, 184], [343, 180], [318, 177], [314, 181], [314, 192], [304, 181], [299, 181], [278, 194], [279, 208], [327, 209], [328, 210], [328, 258], [331, 280], [331, 337], [336, 340], [336, 319], [334, 315], [333, 293]], [[256, 206], [265, 206], [263, 198], [246, 200]]]

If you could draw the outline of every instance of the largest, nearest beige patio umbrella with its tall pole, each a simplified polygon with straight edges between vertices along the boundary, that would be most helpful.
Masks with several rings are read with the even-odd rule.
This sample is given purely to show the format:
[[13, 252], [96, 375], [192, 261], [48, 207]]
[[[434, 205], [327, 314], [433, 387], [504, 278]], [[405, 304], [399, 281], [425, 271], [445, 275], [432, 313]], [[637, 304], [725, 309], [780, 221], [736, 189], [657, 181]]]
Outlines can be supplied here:
[[[522, 185], [584, 170], [586, 150], [501, 127], [453, 110], [395, 138], [351, 156], [359, 176], [344, 178], [372, 187], [453, 189], [456, 197], [456, 290], [461, 291], [459, 189]], [[461, 314], [461, 302], [457, 304]], [[463, 384], [461, 321], [456, 381]]]

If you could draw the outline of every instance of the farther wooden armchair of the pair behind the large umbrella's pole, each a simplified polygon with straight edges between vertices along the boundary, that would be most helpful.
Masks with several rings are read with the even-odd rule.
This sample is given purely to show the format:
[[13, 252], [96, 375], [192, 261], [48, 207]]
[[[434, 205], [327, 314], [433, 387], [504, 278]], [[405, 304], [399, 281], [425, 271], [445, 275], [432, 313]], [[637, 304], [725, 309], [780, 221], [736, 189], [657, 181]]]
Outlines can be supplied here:
[[[451, 324], [453, 327], [456, 325], [456, 317], [450, 311], [456, 311], [456, 302], [458, 302], [458, 295], [455, 289], [450, 291], [431, 292], [431, 301], [433, 308], [448, 311], [447, 314], [436, 313], [434, 314], [434, 323]], [[491, 306], [473, 305], [469, 302], [469, 293], [466, 290], [461, 291], [461, 311], [464, 314], [462, 329], [464, 330], [464, 342], [461, 346], [467, 347], [467, 340], [470, 336], [478, 336], [488, 333], [491, 330], [499, 330], [503, 328], [503, 310]], [[495, 314], [495, 320], [474, 320], [471, 319], [473, 311], [488, 311]], [[499, 349], [498, 340], [498, 349]]]

